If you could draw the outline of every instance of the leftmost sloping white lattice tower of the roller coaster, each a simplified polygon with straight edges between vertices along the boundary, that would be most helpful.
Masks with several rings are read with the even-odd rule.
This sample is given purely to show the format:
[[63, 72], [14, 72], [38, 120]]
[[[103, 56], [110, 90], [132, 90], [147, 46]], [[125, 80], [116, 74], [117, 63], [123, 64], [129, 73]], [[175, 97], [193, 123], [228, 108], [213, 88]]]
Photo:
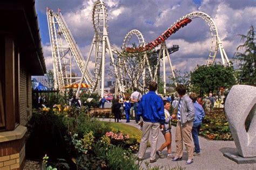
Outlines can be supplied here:
[[[64, 91], [63, 87], [70, 84], [71, 79], [80, 79], [77, 77], [72, 77], [71, 59], [75, 59], [80, 72], [83, 72], [85, 69], [84, 59], [75, 39], [64, 21], [60, 10], [58, 10], [58, 13], [55, 13], [51, 9], [47, 9], [46, 14], [48, 17], [49, 34], [51, 40], [55, 89]], [[63, 38], [66, 41], [66, 45], [63, 45]], [[67, 59], [68, 55], [70, 57], [69, 59]], [[67, 73], [68, 70], [70, 70], [69, 77]], [[92, 81], [92, 74], [90, 70], [86, 70], [84, 79], [86, 83], [90, 85]]]

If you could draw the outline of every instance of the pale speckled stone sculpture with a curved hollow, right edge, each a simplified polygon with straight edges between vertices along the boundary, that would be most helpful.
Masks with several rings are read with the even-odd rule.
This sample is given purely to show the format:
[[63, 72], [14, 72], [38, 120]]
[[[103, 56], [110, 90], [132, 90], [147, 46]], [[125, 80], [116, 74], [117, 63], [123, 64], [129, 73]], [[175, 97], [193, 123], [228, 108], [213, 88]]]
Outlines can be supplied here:
[[241, 157], [256, 157], [256, 87], [235, 85], [228, 93], [225, 113]]

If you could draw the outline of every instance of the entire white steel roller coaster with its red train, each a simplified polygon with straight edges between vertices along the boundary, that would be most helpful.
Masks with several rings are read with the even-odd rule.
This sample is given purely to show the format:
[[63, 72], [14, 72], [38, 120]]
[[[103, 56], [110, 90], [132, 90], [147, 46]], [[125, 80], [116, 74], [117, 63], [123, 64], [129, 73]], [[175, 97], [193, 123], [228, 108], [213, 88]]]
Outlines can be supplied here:
[[[163, 59], [163, 82], [164, 93], [166, 93], [165, 57], [167, 58], [170, 65], [172, 76], [174, 76], [174, 72], [165, 40], [173, 35], [173, 33], [176, 33], [179, 29], [191, 23], [195, 18], [203, 19], [203, 21], [208, 24], [211, 32], [212, 43], [206, 65], [212, 65], [214, 63], [218, 50], [220, 51], [222, 63], [224, 65], [229, 63], [223, 44], [221, 43], [219, 38], [217, 26], [215, 25], [213, 19], [204, 12], [192, 12], [187, 14], [186, 16], [181, 17], [180, 19], [178, 19], [177, 22], [173, 23], [170, 28], [164, 31], [159, 37], [147, 44], [145, 43], [144, 37], [140, 31], [131, 30], [125, 36], [122, 50], [120, 50], [110, 43], [109, 35], [107, 32], [108, 14], [106, 5], [102, 0], [97, 0], [92, 8], [92, 25], [95, 30], [95, 35], [93, 36], [92, 44], [86, 61], [84, 60], [82, 52], [80, 52], [79, 47], [68, 28], [68, 25], [65, 23], [60, 10], [55, 13], [51, 9], [47, 9], [47, 16], [51, 40], [55, 88], [59, 89], [60, 91], [64, 91], [63, 87], [70, 84], [72, 82], [72, 79], [79, 79], [80, 84], [85, 81], [85, 83], [89, 85], [89, 90], [91, 92], [98, 91], [99, 95], [103, 97], [105, 81], [105, 58], [106, 53], [108, 52], [111, 64], [113, 65], [115, 74], [114, 76], [116, 78], [116, 90], [118, 89], [120, 92], [125, 92], [127, 87], [129, 87], [129, 84], [124, 84], [126, 76], [131, 78], [131, 75], [129, 74], [130, 70], [126, 67], [126, 62], [128, 62], [127, 58], [121, 55], [122, 52], [125, 51], [126, 53], [143, 53], [143, 59], [140, 62], [142, 62], [142, 65], [144, 65], [144, 67], [137, 68], [138, 70], [142, 69], [143, 71], [142, 84], [136, 84], [139, 89], [143, 89], [146, 85], [146, 69], [149, 72], [150, 79], [156, 80], [157, 70], [160, 66], [160, 60]], [[130, 40], [133, 36], [137, 37], [139, 42], [138, 46], [129, 47]], [[63, 37], [66, 40], [65, 45], [62, 41]], [[153, 72], [146, 52], [153, 50], [158, 46], [160, 46], [160, 50], [158, 53], [156, 69]], [[117, 57], [114, 57], [113, 55], [116, 55]], [[82, 77], [72, 77], [72, 58], [75, 59], [80, 73], [82, 73]], [[89, 61], [92, 59], [95, 59], [95, 69], [93, 73], [91, 73], [88, 68]], [[122, 67], [120, 65], [122, 65]], [[123, 74], [123, 71], [126, 71], [126, 75]], [[78, 86], [77, 97], [79, 95], [79, 90], [80, 86]]]

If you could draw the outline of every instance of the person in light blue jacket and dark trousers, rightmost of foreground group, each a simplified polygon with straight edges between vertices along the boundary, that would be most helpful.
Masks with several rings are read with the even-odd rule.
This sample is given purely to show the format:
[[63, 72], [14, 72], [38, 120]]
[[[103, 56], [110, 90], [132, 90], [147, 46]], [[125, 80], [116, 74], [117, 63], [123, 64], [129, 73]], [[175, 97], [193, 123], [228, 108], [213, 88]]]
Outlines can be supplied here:
[[204, 112], [203, 107], [196, 102], [197, 101], [196, 93], [191, 93], [190, 98], [193, 101], [194, 111], [195, 111], [194, 122], [193, 122], [193, 127], [192, 127], [192, 137], [194, 140], [194, 156], [196, 156], [196, 155], [200, 155], [198, 134], [199, 134], [199, 130], [200, 130], [202, 121], [205, 117], [205, 112]]

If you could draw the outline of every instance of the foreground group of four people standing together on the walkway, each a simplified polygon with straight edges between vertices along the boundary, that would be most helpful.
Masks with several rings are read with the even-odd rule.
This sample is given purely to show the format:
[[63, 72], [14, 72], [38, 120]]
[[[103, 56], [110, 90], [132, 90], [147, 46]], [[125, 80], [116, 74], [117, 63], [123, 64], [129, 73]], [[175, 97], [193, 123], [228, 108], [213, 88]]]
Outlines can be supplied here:
[[[150, 163], [156, 162], [156, 155], [160, 159], [165, 158], [162, 151], [167, 147], [167, 159], [172, 161], [180, 161], [183, 157], [183, 143], [188, 153], [186, 164], [192, 164], [194, 156], [200, 155], [200, 146], [198, 133], [205, 116], [203, 107], [197, 102], [197, 94], [186, 94], [186, 87], [178, 85], [176, 91], [178, 98], [173, 100], [166, 97], [161, 98], [156, 93], [157, 83], [152, 81], [149, 84], [149, 92], [144, 94], [139, 100], [137, 119], [143, 119], [142, 140], [140, 142], [138, 159], [143, 160], [147, 142], [151, 133], [151, 153]], [[170, 107], [177, 108], [176, 114], [170, 114]], [[172, 132], [171, 122], [177, 119], [177, 127], [175, 134], [176, 154], [171, 152]], [[164, 135], [165, 142], [157, 149], [157, 140], [159, 132]], [[193, 145], [194, 143], [194, 145]]]

